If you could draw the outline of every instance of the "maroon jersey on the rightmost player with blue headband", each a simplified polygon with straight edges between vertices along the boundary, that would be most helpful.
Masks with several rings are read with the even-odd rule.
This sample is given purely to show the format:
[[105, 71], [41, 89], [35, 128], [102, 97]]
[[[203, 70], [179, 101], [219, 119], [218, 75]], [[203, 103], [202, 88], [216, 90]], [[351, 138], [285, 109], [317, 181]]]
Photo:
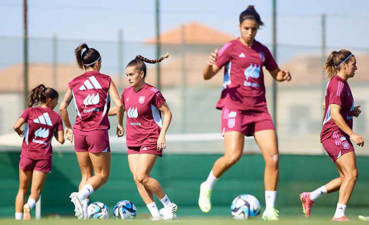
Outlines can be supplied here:
[[328, 82], [325, 101], [323, 128], [322, 132], [320, 133], [321, 142], [327, 138], [330, 138], [334, 131], [340, 131], [342, 134], [344, 134], [344, 132], [339, 129], [334, 121], [330, 118], [330, 104], [341, 105], [340, 114], [351, 130], [354, 110], [353, 96], [349, 84], [337, 75], [335, 75]]

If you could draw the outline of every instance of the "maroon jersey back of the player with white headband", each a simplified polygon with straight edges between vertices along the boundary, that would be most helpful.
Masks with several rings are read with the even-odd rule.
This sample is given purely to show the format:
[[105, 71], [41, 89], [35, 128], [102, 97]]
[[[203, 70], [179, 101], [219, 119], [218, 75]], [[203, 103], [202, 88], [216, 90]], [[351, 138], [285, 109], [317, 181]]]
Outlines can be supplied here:
[[86, 71], [68, 83], [77, 110], [73, 128], [81, 131], [109, 129], [110, 76]]

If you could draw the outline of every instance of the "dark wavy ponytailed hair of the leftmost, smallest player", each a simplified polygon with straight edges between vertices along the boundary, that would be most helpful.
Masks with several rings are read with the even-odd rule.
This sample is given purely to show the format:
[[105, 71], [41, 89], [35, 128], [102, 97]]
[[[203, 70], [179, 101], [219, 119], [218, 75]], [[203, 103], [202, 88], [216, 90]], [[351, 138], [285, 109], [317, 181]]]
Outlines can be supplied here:
[[46, 103], [48, 98], [55, 99], [59, 97], [59, 94], [55, 89], [51, 87], [45, 87], [42, 84], [33, 88], [28, 93], [30, 96], [28, 97], [27, 107]]

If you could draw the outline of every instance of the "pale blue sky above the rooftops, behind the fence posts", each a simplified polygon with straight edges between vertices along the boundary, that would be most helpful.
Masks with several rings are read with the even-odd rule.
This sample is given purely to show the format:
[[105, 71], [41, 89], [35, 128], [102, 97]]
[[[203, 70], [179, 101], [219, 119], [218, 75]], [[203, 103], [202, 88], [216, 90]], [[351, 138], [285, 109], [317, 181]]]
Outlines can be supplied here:
[[[238, 17], [252, 4], [264, 21], [256, 39], [272, 42], [272, 0], [160, 0], [165, 32], [189, 21], [238, 36]], [[0, 36], [23, 34], [23, 0], [0, 0]], [[369, 49], [368, 0], [277, 0], [277, 42], [319, 46], [321, 15], [327, 45]], [[28, 0], [28, 34], [63, 39], [142, 41], [155, 35], [155, 0]]]

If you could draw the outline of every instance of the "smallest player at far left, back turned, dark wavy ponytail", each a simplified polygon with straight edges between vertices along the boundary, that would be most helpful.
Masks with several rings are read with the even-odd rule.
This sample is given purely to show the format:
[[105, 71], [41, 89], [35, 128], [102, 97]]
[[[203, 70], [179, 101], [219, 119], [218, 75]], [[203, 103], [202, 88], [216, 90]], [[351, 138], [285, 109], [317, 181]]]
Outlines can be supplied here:
[[[47, 173], [51, 172], [53, 148], [51, 140], [55, 136], [64, 143], [63, 124], [53, 109], [58, 104], [59, 94], [51, 87], [39, 85], [30, 91], [28, 108], [23, 111], [14, 130], [23, 138], [19, 160], [19, 190], [16, 197], [16, 220], [31, 219], [31, 209], [39, 201]], [[40, 106], [33, 107], [34, 105]], [[27, 128], [20, 126], [27, 123]], [[31, 194], [25, 203], [29, 181], [32, 177]]]

